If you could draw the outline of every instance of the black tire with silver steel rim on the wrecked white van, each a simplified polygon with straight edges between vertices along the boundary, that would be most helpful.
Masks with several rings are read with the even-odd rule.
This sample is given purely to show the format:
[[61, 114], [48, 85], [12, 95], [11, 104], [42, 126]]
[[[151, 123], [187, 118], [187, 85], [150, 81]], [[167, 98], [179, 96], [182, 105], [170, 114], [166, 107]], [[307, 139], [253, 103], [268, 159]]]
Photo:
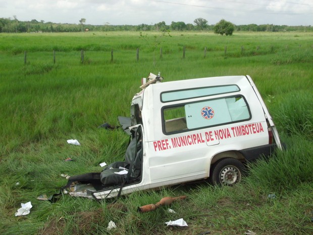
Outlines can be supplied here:
[[245, 167], [237, 159], [223, 158], [212, 166], [210, 182], [214, 185], [232, 186], [240, 182]]

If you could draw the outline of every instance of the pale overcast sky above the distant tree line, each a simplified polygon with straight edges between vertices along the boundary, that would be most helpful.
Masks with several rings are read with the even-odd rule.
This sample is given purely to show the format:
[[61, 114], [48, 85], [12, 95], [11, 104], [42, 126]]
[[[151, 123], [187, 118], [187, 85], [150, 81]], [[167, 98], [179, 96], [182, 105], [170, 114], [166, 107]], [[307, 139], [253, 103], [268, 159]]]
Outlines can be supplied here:
[[0, 18], [92, 25], [138, 25], [165, 21], [236, 25], [313, 25], [313, 0], [0, 0]]

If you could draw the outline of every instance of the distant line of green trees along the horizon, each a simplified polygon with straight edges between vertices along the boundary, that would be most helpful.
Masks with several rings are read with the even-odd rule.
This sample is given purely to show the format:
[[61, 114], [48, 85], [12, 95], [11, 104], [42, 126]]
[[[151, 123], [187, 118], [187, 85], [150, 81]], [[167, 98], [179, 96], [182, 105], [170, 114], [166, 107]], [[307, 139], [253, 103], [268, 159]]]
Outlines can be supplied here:
[[[43, 20], [19, 21], [16, 16], [12, 18], [0, 18], [0, 32], [24, 33], [24, 32], [82, 32], [82, 31], [214, 31], [218, 34], [232, 35], [232, 31], [253, 31], [253, 32], [281, 32], [281, 31], [313, 31], [309, 26], [288, 26], [288, 25], [234, 25], [228, 21], [221, 20], [215, 25], [209, 25], [203, 18], [197, 18], [193, 24], [185, 22], [172, 22], [167, 25], [164, 21], [154, 25], [90, 25], [84, 24], [86, 19], [79, 20], [79, 24], [61, 24], [53, 22], [44, 22]], [[225, 25], [227, 23], [227, 25]], [[227, 27], [222, 29], [221, 27]], [[88, 30], [86, 30], [88, 29]], [[220, 31], [219, 31], [220, 30]], [[228, 31], [227, 31], [228, 30]], [[231, 33], [229, 30], [232, 30]], [[224, 33], [223, 33], [224, 32]]]

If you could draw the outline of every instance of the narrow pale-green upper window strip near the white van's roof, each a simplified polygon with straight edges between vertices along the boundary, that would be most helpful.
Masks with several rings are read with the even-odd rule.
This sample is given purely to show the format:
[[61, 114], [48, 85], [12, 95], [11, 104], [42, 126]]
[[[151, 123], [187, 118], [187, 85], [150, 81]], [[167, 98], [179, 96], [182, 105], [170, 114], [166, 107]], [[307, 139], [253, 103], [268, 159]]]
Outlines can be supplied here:
[[237, 92], [239, 90], [240, 88], [237, 85], [224, 85], [224, 86], [210, 86], [204, 88], [166, 91], [161, 93], [161, 101], [163, 103], [166, 103], [171, 101], [180, 101], [191, 98], [199, 98], [230, 92]]

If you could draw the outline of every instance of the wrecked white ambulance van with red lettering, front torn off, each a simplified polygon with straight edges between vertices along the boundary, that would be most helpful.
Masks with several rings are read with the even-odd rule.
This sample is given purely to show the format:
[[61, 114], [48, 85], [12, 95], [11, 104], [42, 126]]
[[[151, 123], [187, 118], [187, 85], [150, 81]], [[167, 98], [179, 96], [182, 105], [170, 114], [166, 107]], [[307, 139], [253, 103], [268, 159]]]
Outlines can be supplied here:
[[70, 177], [69, 194], [106, 199], [206, 178], [232, 185], [246, 162], [282, 149], [248, 75], [162, 80], [150, 73], [130, 118], [119, 117], [131, 134], [124, 161]]

